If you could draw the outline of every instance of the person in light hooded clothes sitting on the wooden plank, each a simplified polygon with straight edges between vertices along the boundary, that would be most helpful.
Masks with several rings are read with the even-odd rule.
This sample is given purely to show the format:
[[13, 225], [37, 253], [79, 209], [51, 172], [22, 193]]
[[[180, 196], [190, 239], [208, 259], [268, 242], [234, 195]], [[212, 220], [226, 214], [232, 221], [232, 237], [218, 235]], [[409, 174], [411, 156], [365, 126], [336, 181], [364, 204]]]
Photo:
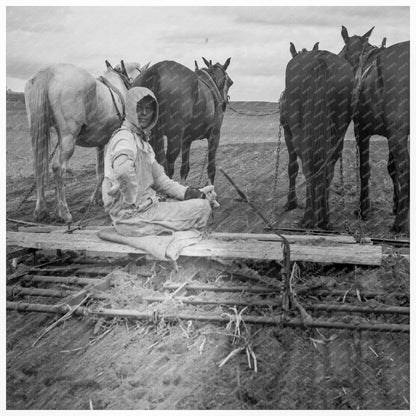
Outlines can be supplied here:
[[[201, 229], [207, 225], [213, 186], [185, 187], [170, 179], [156, 161], [148, 139], [158, 118], [158, 103], [147, 88], [126, 95], [126, 118], [111, 137], [104, 159], [104, 209], [118, 233], [157, 235], [164, 231]], [[162, 202], [156, 191], [176, 201]]]

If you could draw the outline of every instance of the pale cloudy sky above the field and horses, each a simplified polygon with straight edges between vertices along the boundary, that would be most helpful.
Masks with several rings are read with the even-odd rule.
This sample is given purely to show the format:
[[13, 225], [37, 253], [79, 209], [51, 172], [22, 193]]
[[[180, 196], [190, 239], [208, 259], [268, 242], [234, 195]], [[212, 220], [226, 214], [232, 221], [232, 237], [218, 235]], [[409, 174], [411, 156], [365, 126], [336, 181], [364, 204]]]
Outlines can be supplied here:
[[[313, 4], [313, 3], [312, 3]], [[365, 4], [361, 2], [360, 4]], [[224, 63], [234, 81], [233, 101], [277, 101], [297, 49], [339, 53], [341, 26], [370, 43], [410, 39], [408, 6], [65, 6], [6, 7], [6, 86], [25, 82], [47, 65], [72, 63], [99, 76], [104, 61], [156, 63], [174, 60], [191, 69], [202, 57]]]

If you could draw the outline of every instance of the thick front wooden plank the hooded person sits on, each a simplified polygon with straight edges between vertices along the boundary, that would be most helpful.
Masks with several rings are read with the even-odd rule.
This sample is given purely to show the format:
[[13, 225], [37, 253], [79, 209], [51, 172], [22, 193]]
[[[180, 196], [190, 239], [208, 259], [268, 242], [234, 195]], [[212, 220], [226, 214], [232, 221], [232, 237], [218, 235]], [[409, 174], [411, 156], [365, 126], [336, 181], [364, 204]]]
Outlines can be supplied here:
[[[238, 234], [236, 234], [237, 236]], [[157, 238], [157, 237], [155, 237]], [[101, 240], [96, 234], [37, 234], [7, 232], [7, 245], [33, 247], [37, 249], [75, 250], [123, 254], [145, 254], [142, 250]], [[338, 246], [309, 246], [291, 244], [292, 261], [317, 263], [347, 263], [380, 265], [381, 246], [344, 244]], [[181, 256], [248, 258], [259, 260], [283, 260], [283, 249], [279, 241], [218, 240], [204, 239], [185, 247]]]

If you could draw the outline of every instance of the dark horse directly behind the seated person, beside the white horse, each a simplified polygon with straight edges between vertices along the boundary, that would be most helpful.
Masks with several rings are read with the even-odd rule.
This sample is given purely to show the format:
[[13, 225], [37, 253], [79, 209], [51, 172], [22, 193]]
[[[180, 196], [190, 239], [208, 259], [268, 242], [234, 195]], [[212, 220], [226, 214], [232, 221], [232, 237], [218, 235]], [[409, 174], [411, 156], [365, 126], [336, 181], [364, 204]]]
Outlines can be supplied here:
[[[189, 68], [162, 61], [151, 66], [133, 82], [134, 87], [147, 87], [159, 102], [159, 119], [153, 129], [151, 144], [156, 159], [173, 176], [176, 158], [182, 150], [181, 180], [189, 173], [189, 151], [194, 140], [208, 140], [208, 178], [214, 183], [215, 155], [222, 120], [228, 102], [228, 89], [233, 81], [224, 65], [203, 58], [207, 68]], [[167, 151], [163, 136], [167, 137]]]

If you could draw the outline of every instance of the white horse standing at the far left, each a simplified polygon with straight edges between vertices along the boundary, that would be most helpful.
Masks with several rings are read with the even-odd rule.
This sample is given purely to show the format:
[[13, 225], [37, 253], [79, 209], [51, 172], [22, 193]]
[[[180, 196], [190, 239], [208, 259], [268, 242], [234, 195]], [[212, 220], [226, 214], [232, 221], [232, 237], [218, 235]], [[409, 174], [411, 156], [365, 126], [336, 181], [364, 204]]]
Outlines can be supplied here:
[[[39, 71], [25, 85], [37, 187], [36, 221], [49, 219], [44, 181], [49, 170], [51, 133], [57, 136], [59, 145], [59, 160], [52, 166], [58, 217], [65, 223], [72, 222], [64, 178], [75, 145], [97, 147], [97, 183], [91, 203], [102, 203], [104, 147], [122, 122], [124, 99], [131, 84], [123, 61], [121, 70], [114, 69], [108, 61], [106, 64], [106, 72], [98, 79], [74, 65], [52, 65]], [[138, 64], [129, 64], [129, 67], [140, 68]]]

